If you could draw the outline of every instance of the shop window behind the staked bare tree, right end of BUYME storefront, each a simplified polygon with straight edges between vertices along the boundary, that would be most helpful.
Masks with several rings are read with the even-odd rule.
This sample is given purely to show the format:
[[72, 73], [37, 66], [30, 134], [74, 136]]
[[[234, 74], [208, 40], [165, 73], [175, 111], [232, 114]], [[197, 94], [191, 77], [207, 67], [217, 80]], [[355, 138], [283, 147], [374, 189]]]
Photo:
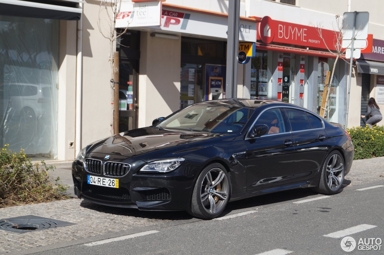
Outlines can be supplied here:
[[[328, 71], [330, 71], [332, 74], [333, 65], [334, 65], [334, 59], [319, 57], [317, 113], [320, 112], [320, 108], [321, 108], [321, 100], [323, 99], [326, 75]], [[325, 111], [326, 119], [334, 122], [337, 122], [337, 114], [335, 113], [336, 113], [336, 106], [338, 104], [338, 100], [337, 100], [338, 86], [339, 86], [338, 74], [337, 72], [335, 72], [335, 74], [333, 75], [332, 84], [329, 86], [329, 100], [328, 100], [327, 108]]]

